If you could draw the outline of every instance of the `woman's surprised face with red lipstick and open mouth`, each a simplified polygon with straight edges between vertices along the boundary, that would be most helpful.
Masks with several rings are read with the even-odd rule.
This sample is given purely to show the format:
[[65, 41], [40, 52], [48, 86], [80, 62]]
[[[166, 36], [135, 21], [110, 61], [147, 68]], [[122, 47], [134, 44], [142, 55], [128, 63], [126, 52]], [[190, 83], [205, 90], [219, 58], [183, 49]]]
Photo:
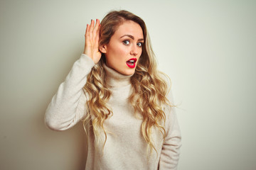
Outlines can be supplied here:
[[142, 28], [134, 21], [124, 21], [103, 45], [108, 67], [124, 75], [135, 72], [139, 57], [142, 55], [144, 36]]

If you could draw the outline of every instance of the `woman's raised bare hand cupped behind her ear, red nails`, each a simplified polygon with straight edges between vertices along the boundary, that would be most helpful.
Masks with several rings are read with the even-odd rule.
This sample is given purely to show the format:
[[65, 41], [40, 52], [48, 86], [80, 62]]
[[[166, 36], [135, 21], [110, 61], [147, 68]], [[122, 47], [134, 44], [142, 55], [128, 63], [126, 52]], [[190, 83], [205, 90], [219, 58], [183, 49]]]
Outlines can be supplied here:
[[102, 54], [99, 50], [100, 39], [100, 21], [96, 19], [92, 20], [90, 25], [87, 24], [85, 31], [85, 50], [84, 54], [90, 57], [95, 64], [100, 61]]

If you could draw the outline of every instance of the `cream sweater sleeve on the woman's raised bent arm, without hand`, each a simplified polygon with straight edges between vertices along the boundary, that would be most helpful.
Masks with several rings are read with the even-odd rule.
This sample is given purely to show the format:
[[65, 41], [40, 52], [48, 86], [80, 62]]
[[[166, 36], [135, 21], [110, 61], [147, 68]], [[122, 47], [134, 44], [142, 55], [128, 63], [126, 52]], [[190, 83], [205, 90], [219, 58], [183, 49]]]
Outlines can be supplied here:
[[46, 109], [45, 123], [48, 128], [67, 130], [85, 116], [87, 99], [82, 88], [94, 65], [91, 58], [84, 54], [73, 64]]

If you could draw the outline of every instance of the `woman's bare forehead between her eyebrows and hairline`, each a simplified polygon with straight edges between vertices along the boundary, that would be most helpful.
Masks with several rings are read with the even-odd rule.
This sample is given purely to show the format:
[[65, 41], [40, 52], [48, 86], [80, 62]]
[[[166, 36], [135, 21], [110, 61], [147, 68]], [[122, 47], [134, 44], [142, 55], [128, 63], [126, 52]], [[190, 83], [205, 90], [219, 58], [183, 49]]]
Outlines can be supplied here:
[[113, 36], [120, 38], [125, 34], [132, 35], [135, 39], [144, 38], [141, 26], [134, 21], [124, 21], [120, 26], [118, 26]]

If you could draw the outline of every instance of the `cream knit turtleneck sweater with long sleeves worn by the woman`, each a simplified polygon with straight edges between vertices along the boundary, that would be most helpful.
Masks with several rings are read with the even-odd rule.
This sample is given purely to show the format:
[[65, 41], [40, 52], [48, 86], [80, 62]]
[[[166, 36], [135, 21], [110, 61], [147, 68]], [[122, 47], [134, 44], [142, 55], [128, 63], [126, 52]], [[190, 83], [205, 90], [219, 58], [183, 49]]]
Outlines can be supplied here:
[[[57, 93], [46, 109], [45, 122], [52, 130], [67, 130], [87, 115], [87, 94], [83, 91], [95, 63], [82, 54], [70, 70], [65, 81], [60, 84]], [[163, 106], [166, 122], [166, 138], [158, 128], [151, 130], [151, 140], [156, 151], [147, 150], [147, 143], [141, 132], [142, 118], [134, 114], [134, 109], [128, 98], [132, 94], [130, 76], [120, 74], [114, 69], [103, 65], [106, 73], [106, 83], [112, 96], [107, 104], [112, 108], [112, 115], [107, 118], [104, 128], [107, 132], [105, 141], [104, 132], [98, 136], [99, 143], [95, 142], [92, 122], [87, 124], [87, 161], [85, 170], [91, 169], [139, 169], [164, 170], [177, 169], [179, 149], [181, 147], [181, 133], [178, 127], [174, 107]], [[171, 93], [167, 98], [173, 103]]]

